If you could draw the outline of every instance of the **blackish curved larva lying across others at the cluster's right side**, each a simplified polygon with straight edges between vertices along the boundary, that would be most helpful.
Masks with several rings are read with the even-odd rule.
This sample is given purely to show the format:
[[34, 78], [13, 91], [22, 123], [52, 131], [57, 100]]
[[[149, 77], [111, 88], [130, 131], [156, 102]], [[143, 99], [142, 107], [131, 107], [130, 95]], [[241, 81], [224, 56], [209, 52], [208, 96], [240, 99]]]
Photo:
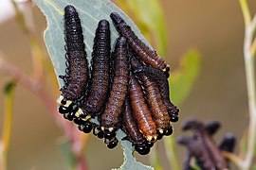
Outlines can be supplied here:
[[167, 108], [169, 115], [171, 117], [171, 122], [177, 122], [179, 109], [176, 106], [174, 106], [174, 104], [170, 100], [169, 83], [164, 73], [149, 66], [134, 68], [134, 73], [137, 76], [150, 76], [155, 80], [157, 86], [159, 87], [163, 104]]

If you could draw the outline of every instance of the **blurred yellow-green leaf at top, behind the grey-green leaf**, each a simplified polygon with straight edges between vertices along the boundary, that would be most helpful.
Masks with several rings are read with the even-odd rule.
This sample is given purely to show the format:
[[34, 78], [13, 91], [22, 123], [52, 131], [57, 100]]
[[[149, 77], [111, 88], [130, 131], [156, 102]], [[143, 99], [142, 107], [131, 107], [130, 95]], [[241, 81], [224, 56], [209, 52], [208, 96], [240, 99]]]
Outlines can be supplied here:
[[159, 0], [117, 1], [125, 11], [136, 16], [136, 23], [149, 39], [153, 34], [157, 53], [164, 58], [167, 51], [167, 31]]

